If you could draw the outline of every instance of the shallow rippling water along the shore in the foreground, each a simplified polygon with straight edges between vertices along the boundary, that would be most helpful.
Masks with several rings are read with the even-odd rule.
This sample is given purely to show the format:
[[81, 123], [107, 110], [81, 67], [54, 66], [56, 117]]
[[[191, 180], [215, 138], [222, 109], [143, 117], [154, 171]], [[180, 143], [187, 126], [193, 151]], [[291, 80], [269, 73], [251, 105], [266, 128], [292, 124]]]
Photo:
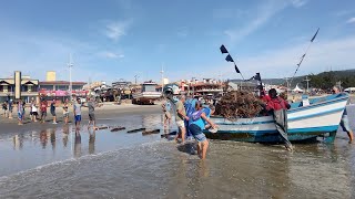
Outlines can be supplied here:
[[[352, 113], [352, 111], [349, 112]], [[101, 123], [102, 124], [102, 123]], [[103, 125], [103, 124], [102, 124]], [[1, 198], [354, 198], [355, 145], [278, 145], [212, 140], [206, 160], [160, 134], [161, 115], [106, 119], [80, 136], [70, 125], [0, 140]]]

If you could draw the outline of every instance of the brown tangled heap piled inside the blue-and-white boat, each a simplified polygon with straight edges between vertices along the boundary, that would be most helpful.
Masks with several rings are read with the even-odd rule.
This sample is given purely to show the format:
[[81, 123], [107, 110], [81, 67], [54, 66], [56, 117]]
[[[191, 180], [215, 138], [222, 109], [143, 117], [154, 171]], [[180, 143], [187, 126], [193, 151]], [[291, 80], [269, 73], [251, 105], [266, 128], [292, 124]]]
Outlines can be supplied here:
[[255, 117], [263, 111], [263, 104], [251, 91], [231, 91], [216, 104], [215, 115], [230, 121]]

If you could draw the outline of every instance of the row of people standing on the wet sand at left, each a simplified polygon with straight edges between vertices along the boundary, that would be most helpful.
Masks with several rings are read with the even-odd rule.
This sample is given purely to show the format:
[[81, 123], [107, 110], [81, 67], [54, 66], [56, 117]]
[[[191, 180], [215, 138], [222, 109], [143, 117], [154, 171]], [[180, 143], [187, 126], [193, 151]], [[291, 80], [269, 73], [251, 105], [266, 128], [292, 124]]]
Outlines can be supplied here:
[[3, 111], [3, 117], [12, 119], [13, 118], [13, 112], [17, 113], [17, 119], [18, 119], [18, 125], [23, 125], [23, 121], [26, 118], [26, 107], [29, 107], [29, 116], [30, 116], [30, 122], [37, 123], [40, 122], [41, 124], [47, 123], [47, 114], [48, 114], [48, 108], [49, 112], [52, 116], [52, 124], [57, 125], [58, 124], [58, 118], [57, 118], [57, 108], [62, 109], [62, 118], [64, 122], [64, 125], [68, 125], [69, 123], [69, 107], [72, 105], [73, 107], [73, 119], [75, 122], [75, 129], [80, 129], [80, 123], [81, 123], [81, 107], [88, 107], [89, 108], [89, 124], [88, 128], [92, 126], [94, 129], [97, 128], [97, 123], [95, 123], [95, 115], [94, 115], [94, 109], [98, 106], [101, 106], [98, 104], [93, 97], [88, 97], [88, 103], [82, 103], [81, 98], [77, 98], [75, 101], [70, 102], [68, 98], [62, 103], [61, 106], [57, 105], [57, 101], [52, 100], [49, 102], [45, 100], [45, 97], [40, 97], [40, 102], [37, 103], [36, 100], [32, 97], [29, 104], [26, 104], [21, 98], [18, 100], [17, 102], [13, 102], [12, 100], [6, 101], [2, 103], [2, 111]]

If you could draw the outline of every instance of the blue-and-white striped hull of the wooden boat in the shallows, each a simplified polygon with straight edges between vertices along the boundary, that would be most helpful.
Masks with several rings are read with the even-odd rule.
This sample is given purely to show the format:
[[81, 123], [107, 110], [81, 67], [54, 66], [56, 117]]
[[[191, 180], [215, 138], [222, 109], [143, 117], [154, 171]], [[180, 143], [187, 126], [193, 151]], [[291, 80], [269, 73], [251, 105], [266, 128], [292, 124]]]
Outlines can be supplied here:
[[[325, 142], [334, 142], [347, 101], [348, 95], [341, 93], [312, 98], [307, 103], [308, 105], [303, 105], [302, 102], [291, 104], [291, 108], [287, 111], [288, 139], [301, 142], [323, 137]], [[211, 119], [219, 125], [219, 130], [215, 134], [205, 130], [209, 138], [250, 143], [282, 142], [273, 116], [239, 118], [236, 121], [215, 116]]]

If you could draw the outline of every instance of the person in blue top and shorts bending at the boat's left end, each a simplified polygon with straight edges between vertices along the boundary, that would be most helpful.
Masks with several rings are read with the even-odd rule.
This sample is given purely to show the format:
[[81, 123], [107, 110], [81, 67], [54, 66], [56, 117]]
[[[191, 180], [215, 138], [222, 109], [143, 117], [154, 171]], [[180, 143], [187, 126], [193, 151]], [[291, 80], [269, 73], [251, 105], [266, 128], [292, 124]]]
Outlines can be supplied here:
[[209, 148], [209, 140], [203, 134], [203, 130], [206, 127], [206, 123], [213, 128], [216, 129], [216, 125], [210, 121], [210, 115], [215, 111], [214, 106], [211, 105], [210, 108], [203, 108], [201, 103], [197, 101], [195, 104], [195, 112], [192, 114], [189, 119], [189, 129], [192, 136], [197, 140], [197, 154], [201, 159], [206, 158], [206, 153]]

